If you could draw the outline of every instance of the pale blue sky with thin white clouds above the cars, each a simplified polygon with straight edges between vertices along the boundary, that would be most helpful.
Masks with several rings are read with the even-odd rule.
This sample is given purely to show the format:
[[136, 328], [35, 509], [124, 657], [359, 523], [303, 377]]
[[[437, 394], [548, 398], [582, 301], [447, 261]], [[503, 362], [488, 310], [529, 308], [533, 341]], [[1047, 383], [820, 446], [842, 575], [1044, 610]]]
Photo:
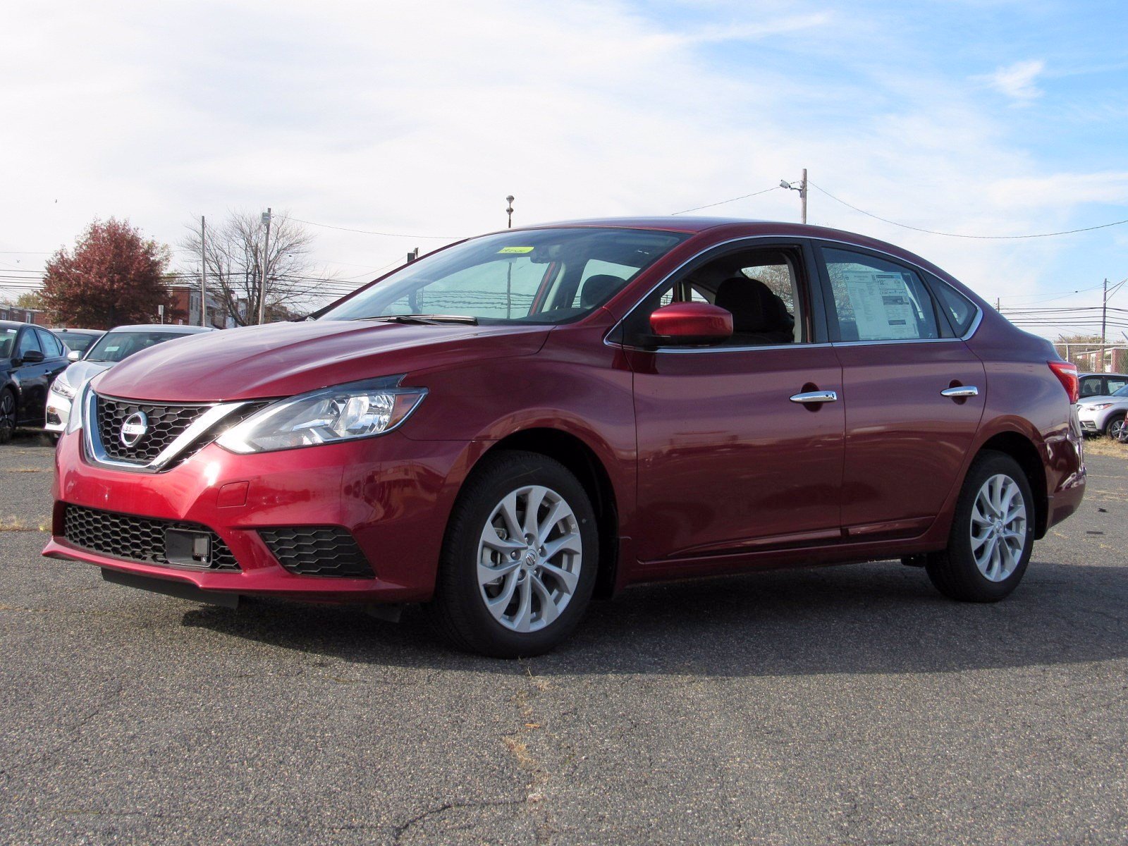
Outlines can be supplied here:
[[[1128, 220], [1122, 0], [6, 3], [0, 73], [2, 280], [94, 218], [175, 246], [271, 206], [337, 290], [504, 227], [509, 194], [514, 224], [669, 214], [804, 167], [810, 222], [1004, 314], [1128, 277], [1128, 223], [906, 228]], [[797, 221], [799, 197], [697, 213]]]

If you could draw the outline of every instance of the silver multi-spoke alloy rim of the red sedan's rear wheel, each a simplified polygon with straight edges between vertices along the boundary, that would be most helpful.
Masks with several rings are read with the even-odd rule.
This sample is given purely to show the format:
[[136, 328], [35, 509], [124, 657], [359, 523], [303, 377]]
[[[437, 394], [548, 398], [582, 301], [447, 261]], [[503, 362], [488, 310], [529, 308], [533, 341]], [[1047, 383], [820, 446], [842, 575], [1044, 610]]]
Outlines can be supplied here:
[[982, 575], [1002, 582], [1022, 559], [1026, 503], [1019, 484], [1003, 474], [984, 482], [971, 506], [971, 554]]

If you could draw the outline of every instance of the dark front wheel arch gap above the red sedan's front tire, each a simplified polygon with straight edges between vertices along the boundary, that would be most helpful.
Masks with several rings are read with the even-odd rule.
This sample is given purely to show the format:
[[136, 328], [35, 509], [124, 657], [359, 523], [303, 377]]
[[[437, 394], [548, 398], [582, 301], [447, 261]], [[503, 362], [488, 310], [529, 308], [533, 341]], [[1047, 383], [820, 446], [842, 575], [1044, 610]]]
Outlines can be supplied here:
[[[619, 565], [619, 503], [610, 474], [596, 450], [580, 437], [549, 426], [513, 432], [493, 443], [478, 461], [497, 450], [525, 450], [547, 456], [564, 465], [580, 481], [591, 497], [599, 528], [594, 596], [610, 597], [615, 592]], [[473, 468], [470, 470], [473, 473]]]

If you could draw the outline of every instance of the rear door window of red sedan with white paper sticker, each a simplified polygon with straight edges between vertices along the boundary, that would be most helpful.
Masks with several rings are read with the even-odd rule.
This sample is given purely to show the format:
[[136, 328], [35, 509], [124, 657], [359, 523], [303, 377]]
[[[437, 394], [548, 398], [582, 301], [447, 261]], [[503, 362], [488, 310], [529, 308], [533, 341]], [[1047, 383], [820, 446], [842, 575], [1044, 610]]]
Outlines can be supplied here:
[[916, 272], [846, 249], [822, 249], [838, 341], [940, 337], [932, 297]]

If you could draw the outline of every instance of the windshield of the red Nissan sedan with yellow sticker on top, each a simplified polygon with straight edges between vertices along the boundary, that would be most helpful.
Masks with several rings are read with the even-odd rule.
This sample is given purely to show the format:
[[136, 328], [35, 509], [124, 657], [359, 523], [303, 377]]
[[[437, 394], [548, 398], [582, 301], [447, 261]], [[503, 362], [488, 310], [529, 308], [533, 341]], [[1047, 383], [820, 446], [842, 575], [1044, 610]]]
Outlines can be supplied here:
[[413, 262], [323, 320], [424, 315], [558, 324], [592, 311], [688, 236], [569, 228], [474, 238]]

